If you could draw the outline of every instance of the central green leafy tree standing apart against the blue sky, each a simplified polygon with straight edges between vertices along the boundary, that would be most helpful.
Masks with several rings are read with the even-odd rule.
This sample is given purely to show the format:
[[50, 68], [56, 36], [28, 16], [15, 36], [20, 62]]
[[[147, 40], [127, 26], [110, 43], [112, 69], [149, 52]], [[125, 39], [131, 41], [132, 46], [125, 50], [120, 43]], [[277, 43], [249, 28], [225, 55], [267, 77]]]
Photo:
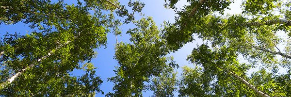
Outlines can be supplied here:
[[116, 45], [114, 59], [119, 66], [115, 70], [116, 76], [108, 79], [114, 82], [114, 93], [108, 93], [107, 97], [140, 97], [146, 87], [144, 82], [149, 82], [152, 76], [160, 76], [165, 68], [175, 66], [173, 62], [166, 64], [169, 50], [152, 18], [142, 18], [134, 23], [137, 28], [127, 32], [132, 44], [121, 42]]

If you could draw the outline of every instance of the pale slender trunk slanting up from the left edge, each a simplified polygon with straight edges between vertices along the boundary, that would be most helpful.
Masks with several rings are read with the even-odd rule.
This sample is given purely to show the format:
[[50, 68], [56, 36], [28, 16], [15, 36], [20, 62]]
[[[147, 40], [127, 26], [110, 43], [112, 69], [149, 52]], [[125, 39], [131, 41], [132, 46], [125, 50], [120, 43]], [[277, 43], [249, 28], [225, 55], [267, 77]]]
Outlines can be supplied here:
[[[76, 38], [76, 36], [75, 36], [75, 38]], [[65, 42], [64, 44], [61, 44], [61, 45], [57, 46], [55, 50], [60, 49], [62, 46], [66, 45], [66, 44], [68, 44], [68, 43], [70, 43], [70, 42], [71, 42], [71, 41], [67, 41], [67, 42]], [[2, 52], [3, 52], [3, 51], [2, 51]], [[37, 62], [40, 62], [40, 61], [42, 61], [42, 60], [48, 58], [52, 53], [53, 53], [53, 50], [49, 51], [48, 55], [43, 56], [42, 58], [38, 59]], [[31, 65], [27, 66], [26, 68], [22, 69], [21, 71], [17, 72], [14, 76], [10, 77], [8, 80], [6, 80], [6, 82], [2, 82], [2, 83], [0, 84], [0, 90], [3, 89], [4, 87], [6, 87], [6, 86], [7, 86], [8, 84], [10, 84], [11, 82], [15, 81], [15, 79], [16, 79], [19, 75], [21, 75], [24, 71], [26, 71], [27, 69], [32, 68], [32, 67], [34, 67], [34, 66], [35, 66], [35, 65], [31, 64]]]

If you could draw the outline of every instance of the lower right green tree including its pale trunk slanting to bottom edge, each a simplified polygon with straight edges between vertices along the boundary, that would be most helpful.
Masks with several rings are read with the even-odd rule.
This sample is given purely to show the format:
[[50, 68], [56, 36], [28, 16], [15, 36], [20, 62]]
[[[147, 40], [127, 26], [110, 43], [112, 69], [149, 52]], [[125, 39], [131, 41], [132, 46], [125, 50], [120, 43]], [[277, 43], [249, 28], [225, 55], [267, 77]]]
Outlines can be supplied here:
[[[203, 67], [202, 72], [203, 74], [205, 74], [204, 77], [203, 76], [202, 77], [203, 79], [206, 79], [206, 83], [208, 85], [211, 84], [211, 82], [213, 82], [214, 80], [217, 80], [216, 81], [217, 83], [215, 81], [214, 84], [212, 83], [212, 85], [214, 85], [212, 87], [215, 87], [212, 89], [215, 90], [215, 92], [212, 91], [214, 94], [217, 94], [218, 96], [220, 95], [247, 96], [249, 95], [247, 94], [247, 92], [250, 92], [249, 89], [252, 89], [255, 92], [255, 93], [253, 92], [253, 94], [259, 94], [260, 96], [263, 97], [269, 97], [267, 94], [259, 91], [258, 89], [256, 89], [256, 87], [254, 87], [248, 81], [245, 81], [243, 78], [239, 76], [239, 75], [244, 76], [249, 66], [239, 65], [239, 63], [236, 60], [237, 55], [232, 48], [221, 47], [220, 49], [217, 49], [215, 51], [211, 51], [211, 49], [208, 48], [209, 47], [207, 45], [201, 45], [198, 49], [194, 49], [192, 54], [188, 57], [188, 60], [190, 60], [190, 62], [194, 63], [195, 65], [202, 65]], [[197, 69], [196, 67], [196, 70], [199, 69]], [[201, 72], [201, 69], [199, 71]], [[199, 71], [196, 72], [199, 73]], [[236, 72], [234, 73], [232, 71]], [[229, 79], [228, 76], [230, 75], [232, 75], [234, 79], [233, 78]], [[240, 82], [242, 82], [245, 85], [242, 86]], [[204, 86], [204, 84], [202, 86]], [[211, 85], [209, 85], [208, 88], [210, 88], [210, 86]], [[241, 89], [237, 86], [241, 87]], [[221, 89], [216, 89], [219, 87]], [[221, 91], [226, 91], [227, 94], [220, 94], [223, 93]], [[231, 92], [234, 93], [229, 94]]]

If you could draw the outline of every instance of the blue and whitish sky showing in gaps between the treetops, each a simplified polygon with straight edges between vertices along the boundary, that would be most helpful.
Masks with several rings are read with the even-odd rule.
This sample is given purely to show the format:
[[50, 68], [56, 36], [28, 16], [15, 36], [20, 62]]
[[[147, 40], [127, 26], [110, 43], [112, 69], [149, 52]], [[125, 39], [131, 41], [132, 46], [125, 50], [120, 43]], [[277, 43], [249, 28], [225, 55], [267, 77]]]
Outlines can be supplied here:
[[[122, 4], [127, 4], [127, 0], [121, 0]], [[143, 14], [145, 16], [152, 16], [155, 20], [158, 27], [161, 27], [163, 21], [170, 21], [174, 22], [174, 16], [175, 12], [172, 9], [165, 9], [163, 7], [163, 4], [165, 3], [164, 0], [141, 0], [143, 1], [146, 6], [143, 9]], [[66, 1], [68, 4], [75, 3], [72, 2], [72, 0]], [[186, 0], [179, 1], [177, 4], [177, 7], [182, 7], [182, 5], [187, 4]], [[231, 4], [231, 7], [233, 10], [229, 11], [226, 10], [226, 13], [229, 14], [238, 14], [241, 13], [240, 10], [240, 4], [241, 1], [237, 1], [234, 4]], [[125, 32], [129, 28], [134, 28], [132, 24], [129, 25], [122, 25], [120, 27], [122, 29], [122, 36], [118, 36], [119, 42], [126, 42], [129, 43], [129, 35], [125, 34]], [[21, 34], [29, 34], [32, 30], [28, 27], [28, 25], [24, 25], [23, 23], [19, 22], [15, 25], [0, 25], [0, 36], [3, 36], [6, 32], [14, 33], [14, 32], [20, 32]], [[97, 58], [93, 59], [91, 62], [97, 67], [97, 75], [101, 77], [103, 80], [102, 85], [100, 86], [101, 90], [104, 91], [105, 94], [112, 91], [113, 88], [113, 82], [107, 81], [107, 78], [114, 77], [115, 74], [113, 70], [115, 69], [115, 66], [117, 66], [116, 60], [113, 59], [114, 55], [114, 45], [115, 45], [115, 36], [113, 33], [108, 33], [108, 41], [107, 41], [107, 48], [101, 47], [100, 49], [96, 49], [97, 51]], [[196, 44], [201, 44], [201, 39], [197, 39], [192, 42], [186, 44], [183, 48], [179, 49], [175, 53], [171, 53], [170, 55], [174, 56], [175, 61], [181, 66], [190, 65], [186, 61], [187, 55], [189, 55], [194, 47], [196, 47]], [[177, 70], [178, 75], [180, 74], [180, 69]], [[81, 70], [75, 70], [73, 72], [74, 75], [81, 75], [83, 72]], [[152, 92], [146, 92], [143, 94], [144, 97], [149, 97], [152, 95]], [[177, 96], [177, 93], [175, 93]], [[101, 95], [100, 93], [97, 94], [97, 97], [103, 97], [104, 95]]]

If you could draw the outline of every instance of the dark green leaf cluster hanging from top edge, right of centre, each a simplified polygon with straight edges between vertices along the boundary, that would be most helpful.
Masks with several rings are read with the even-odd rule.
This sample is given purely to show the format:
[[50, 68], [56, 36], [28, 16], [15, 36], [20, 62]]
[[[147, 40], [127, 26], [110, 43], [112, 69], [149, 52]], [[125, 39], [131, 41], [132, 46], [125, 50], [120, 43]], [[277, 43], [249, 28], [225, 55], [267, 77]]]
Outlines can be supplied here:
[[[170, 5], [177, 2], [170, 0]], [[190, 5], [185, 5], [181, 10], [175, 10], [178, 16], [175, 23], [166, 23], [163, 29], [163, 38], [167, 40], [167, 46], [176, 51], [184, 44], [194, 40], [193, 33], [205, 29], [204, 16], [213, 11], [223, 14], [232, 0], [188, 0]], [[197, 25], [197, 26], [196, 26]]]

